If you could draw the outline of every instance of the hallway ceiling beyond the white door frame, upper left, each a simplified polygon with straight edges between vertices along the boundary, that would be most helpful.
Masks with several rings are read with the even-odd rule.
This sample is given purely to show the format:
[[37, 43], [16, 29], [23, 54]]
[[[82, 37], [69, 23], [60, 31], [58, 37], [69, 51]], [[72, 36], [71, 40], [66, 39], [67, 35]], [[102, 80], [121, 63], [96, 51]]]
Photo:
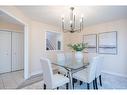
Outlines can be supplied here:
[[17, 24], [20, 26], [24, 26], [22, 23], [14, 19], [13, 17], [9, 16], [8, 14], [0, 11], [0, 23], [12, 23]]

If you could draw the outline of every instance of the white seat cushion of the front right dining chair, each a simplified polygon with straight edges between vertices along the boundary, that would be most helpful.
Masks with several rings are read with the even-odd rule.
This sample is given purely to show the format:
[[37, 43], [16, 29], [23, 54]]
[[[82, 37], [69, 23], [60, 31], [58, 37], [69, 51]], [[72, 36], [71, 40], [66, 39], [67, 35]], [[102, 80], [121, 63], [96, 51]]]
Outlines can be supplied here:
[[90, 83], [92, 81], [88, 80], [88, 70], [87, 69], [83, 69], [81, 71], [78, 71], [76, 73], [73, 74], [73, 78], [78, 79], [82, 82], [86, 82], [86, 83]]

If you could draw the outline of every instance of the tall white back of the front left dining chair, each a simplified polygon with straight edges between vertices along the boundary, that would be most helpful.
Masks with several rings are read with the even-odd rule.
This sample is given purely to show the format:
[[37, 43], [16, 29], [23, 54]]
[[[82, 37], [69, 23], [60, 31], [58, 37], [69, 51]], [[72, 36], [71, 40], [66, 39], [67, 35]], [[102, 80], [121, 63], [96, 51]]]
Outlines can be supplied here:
[[40, 61], [43, 69], [44, 83], [46, 84], [47, 89], [51, 89], [53, 87], [53, 71], [51, 62], [47, 58], [41, 58]]

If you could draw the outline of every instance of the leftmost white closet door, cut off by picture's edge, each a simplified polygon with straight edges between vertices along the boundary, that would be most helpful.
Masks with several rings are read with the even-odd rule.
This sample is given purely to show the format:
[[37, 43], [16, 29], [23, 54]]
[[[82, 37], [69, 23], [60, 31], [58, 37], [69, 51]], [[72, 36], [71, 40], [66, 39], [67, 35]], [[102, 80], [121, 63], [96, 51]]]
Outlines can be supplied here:
[[0, 31], [0, 73], [11, 71], [11, 32]]

